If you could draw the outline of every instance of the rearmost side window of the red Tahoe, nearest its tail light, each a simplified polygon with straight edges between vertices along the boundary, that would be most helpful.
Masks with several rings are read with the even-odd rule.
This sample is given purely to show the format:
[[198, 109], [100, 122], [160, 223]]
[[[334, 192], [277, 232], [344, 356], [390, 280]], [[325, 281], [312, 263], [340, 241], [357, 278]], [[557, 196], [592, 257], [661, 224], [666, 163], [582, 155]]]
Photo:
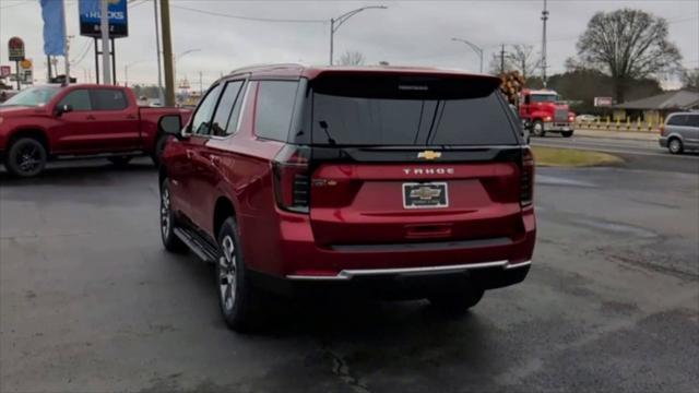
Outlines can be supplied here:
[[294, 114], [297, 81], [260, 81], [254, 133], [263, 139], [286, 142]]

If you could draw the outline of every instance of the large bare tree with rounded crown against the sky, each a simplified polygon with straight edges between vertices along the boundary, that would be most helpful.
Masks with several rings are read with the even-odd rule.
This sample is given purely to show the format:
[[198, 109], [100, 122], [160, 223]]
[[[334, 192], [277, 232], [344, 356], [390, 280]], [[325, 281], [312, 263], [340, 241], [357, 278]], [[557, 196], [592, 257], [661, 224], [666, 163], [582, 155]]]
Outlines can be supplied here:
[[676, 71], [682, 55], [667, 40], [667, 21], [641, 10], [595, 13], [577, 44], [580, 61], [612, 76], [617, 103], [626, 82]]

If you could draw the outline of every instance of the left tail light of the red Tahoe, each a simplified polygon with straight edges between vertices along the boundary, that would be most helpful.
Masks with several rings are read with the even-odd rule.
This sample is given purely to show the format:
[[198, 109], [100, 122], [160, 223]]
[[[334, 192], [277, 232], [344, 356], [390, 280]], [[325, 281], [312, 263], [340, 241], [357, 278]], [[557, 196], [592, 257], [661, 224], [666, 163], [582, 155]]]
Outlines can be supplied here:
[[310, 148], [285, 145], [274, 157], [274, 193], [280, 209], [295, 213], [308, 213]]

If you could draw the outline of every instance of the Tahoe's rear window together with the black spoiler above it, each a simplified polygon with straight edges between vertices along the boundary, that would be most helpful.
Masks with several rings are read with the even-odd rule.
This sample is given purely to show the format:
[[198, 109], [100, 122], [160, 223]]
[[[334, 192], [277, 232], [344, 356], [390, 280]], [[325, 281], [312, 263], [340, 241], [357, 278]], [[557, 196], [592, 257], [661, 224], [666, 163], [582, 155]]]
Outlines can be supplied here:
[[[315, 145], [518, 144], [493, 81], [321, 83], [312, 92]], [[362, 87], [363, 82], [366, 88]], [[371, 83], [374, 82], [374, 83]]]

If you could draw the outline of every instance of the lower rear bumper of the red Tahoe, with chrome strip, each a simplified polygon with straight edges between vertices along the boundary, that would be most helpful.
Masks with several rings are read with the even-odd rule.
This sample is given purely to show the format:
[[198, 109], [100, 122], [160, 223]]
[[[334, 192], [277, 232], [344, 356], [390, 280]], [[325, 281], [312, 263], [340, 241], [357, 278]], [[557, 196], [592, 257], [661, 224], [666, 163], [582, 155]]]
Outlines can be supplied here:
[[536, 238], [533, 207], [519, 215], [517, 236], [400, 245], [323, 247], [317, 245], [308, 216], [279, 212], [277, 218], [279, 231], [270, 234], [269, 247], [254, 243], [245, 252], [261, 281], [283, 291], [359, 287], [419, 297], [413, 287], [425, 291], [463, 285], [502, 287], [524, 279]]

